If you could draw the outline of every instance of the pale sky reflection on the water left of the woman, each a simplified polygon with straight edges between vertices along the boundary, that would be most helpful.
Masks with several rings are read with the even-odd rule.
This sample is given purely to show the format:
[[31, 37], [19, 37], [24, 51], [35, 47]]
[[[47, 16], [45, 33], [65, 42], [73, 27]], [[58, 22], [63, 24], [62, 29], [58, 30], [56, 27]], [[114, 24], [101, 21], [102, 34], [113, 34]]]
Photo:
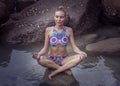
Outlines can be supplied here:
[[43, 73], [31, 53], [12, 49], [10, 63], [0, 67], [0, 86], [38, 86]]

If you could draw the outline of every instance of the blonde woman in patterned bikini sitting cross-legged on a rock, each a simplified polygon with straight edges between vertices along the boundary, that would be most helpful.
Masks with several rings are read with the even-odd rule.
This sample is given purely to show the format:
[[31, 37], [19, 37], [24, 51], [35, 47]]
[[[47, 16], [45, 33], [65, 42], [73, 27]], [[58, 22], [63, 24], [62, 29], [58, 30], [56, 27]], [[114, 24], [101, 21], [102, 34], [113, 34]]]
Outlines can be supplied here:
[[[55, 26], [46, 28], [44, 47], [36, 57], [34, 56], [42, 66], [55, 69], [49, 74], [49, 79], [63, 71], [70, 75], [70, 68], [87, 57], [87, 54], [76, 46], [72, 28], [64, 26], [66, 11], [62, 6], [55, 11], [54, 20]], [[76, 55], [68, 56], [66, 47], [69, 42]], [[48, 47], [48, 56], [43, 56], [48, 51]]]

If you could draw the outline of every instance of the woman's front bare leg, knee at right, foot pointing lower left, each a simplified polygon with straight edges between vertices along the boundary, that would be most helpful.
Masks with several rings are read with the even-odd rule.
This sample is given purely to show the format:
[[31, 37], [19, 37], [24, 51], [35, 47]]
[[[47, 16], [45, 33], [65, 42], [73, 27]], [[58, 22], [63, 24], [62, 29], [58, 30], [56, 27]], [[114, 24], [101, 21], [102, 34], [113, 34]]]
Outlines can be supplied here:
[[53, 71], [51, 74], [49, 74], [48, 78], [52, 79], [52, 77], [55, 76], [56, 74], [76, 66], [81, 60], [82, 58], [80, 57], [80, 55], [67, 57], [65, 60], [63, 60], [63, 63], [65, 64], [63, 66], [60, 66], [57, 70]]

